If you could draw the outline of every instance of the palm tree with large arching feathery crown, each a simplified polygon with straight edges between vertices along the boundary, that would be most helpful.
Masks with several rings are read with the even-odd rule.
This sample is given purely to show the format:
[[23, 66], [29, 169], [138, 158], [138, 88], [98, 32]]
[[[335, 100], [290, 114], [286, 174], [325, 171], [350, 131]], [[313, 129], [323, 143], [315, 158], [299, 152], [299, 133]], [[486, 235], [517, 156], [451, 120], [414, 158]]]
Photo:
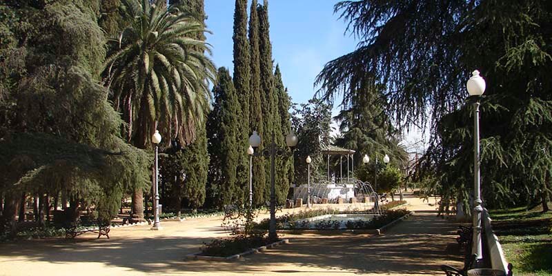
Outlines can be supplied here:
[[[124, 135], [138, 148], [150, 145], [156, 129], [165, 141], [189, 144], [208, 111], [208, 82], [215, 79], [215, 65], [204, 54], [210, 54], [210, 46], [193, 38], [207, 30], [181, 5], [123, 3], [129, 25], [110, 39], [115, 50], [106, 59], [104, 75], [110, 100], [127, 123]], [[144, 219], [142, 200], [137, 187], [132, 217], [138, 220]]]

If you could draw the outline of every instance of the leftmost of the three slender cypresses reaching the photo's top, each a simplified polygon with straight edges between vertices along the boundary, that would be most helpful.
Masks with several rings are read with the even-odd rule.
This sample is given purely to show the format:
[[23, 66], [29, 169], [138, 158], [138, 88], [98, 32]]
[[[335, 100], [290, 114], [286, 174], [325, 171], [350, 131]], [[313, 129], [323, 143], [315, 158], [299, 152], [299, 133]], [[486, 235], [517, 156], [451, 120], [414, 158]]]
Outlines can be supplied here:
[[250, 53], [247, 41], [247, 0], [236, 0], [234, 11], [234, 86], [241, 108], [239, 110], [239, 128], [237, 132], [237, 149], [239, 163], [237, 166], [237, 185], [242, 188], [244, 196], [248, 194], [249, 157], [247, 155], [249, 137], [249, 90], [250, 90]]

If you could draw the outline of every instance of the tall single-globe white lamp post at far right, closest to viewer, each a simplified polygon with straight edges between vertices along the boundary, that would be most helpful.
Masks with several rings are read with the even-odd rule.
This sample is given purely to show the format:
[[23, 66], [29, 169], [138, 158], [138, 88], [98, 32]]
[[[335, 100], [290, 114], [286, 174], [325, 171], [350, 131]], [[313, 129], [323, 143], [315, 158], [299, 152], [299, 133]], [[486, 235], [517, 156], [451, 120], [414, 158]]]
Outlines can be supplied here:
[[479, 99], [485, 92], [485, 80], [479, 75], [479, 71], [472, 72], [471, 78], [466, 83], [468, 93], [477, 99], [473, 103], [473, 248], [472, 253], [477, 255], [477, 261], [483, 258], [481, 248], [481, 186], [480, 186], [480, 152], [479, 152]]

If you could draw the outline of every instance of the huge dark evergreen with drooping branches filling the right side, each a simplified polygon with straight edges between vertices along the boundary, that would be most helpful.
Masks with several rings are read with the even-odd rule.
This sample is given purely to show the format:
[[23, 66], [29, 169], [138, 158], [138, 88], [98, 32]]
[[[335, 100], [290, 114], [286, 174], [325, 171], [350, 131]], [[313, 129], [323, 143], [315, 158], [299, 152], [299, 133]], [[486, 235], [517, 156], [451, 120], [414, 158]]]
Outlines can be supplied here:
[[465, 85], [478, 69], [488, 80], [480, 107], [482, 182], [488, 184], [483, 198], [487, 206], [511, 199], [540, 201], [548, 209], [549, 1], [362, 0], [339, 2], [335, 11], [362, 41], [354, 52], [327, 63], [317, 77], [326, 99], [339, 92], [350, 97], [351, 83], [373, 75], [386, 85], [397, 121], [423, 124], [431, 112], [425, 164], [440, 181], [442, 195], [467, 202], [473, 194], [473, 107], [466, 104]]

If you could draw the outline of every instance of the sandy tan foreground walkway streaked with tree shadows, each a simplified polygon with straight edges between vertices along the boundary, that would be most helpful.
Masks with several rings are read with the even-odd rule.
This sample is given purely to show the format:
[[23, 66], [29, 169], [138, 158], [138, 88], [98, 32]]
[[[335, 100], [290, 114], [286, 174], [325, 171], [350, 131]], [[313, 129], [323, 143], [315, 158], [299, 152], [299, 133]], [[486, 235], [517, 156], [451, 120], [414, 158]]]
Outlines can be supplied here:
[[440, 264], [462, 266], [457, 224], [435, 206], [406, 198], [415, 215], [387, 233], [285, 235], [291, 244], [232, 262], [184, 260], [203, 242], [224, 237], [220, 217], [113, 229], [111, 239], [45, 239], [0, 244], [0, 275], [444, 275]]

